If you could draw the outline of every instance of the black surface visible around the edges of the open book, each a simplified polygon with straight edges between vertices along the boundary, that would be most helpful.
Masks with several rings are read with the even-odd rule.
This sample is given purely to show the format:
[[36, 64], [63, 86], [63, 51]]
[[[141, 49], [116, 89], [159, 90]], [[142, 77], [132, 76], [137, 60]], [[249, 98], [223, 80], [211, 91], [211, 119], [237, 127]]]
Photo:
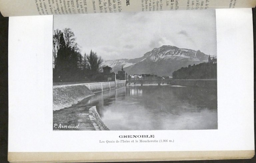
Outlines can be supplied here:
[[[254, 99], [255, 99], [255, 52], [256, 52], [256, 9], [253, 8], [253, 37], [254, 37]], [[0, 14], [0, 163], [7, 161], [8, 144], [8, 17]], [[255, 102], [254, 102], [255, 106]], [[254, 132], [255, 132], [255, 108], [254, 108]], [[17, 135], [18, 136], [18, 135]], [[255, 137], [255, 135], [254, 135]], [[154, 161], [160, 162], [160, 161]], [[200, 161], [161, 161], [174, 163], [256, 163], [255, 156], [252, 159], [241, 160], [200, 160]]]

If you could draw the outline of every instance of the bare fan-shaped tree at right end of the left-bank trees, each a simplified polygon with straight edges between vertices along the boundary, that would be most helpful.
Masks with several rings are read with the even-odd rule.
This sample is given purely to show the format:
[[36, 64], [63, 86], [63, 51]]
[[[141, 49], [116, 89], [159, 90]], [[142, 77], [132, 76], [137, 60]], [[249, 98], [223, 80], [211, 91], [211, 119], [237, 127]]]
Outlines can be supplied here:
[[99, 72], [100, 65], [103, 63], [101, 56], [98, 56], [96, 52], [91, 50], [90, 55], [86, 57], [87, 59], [87, 68], [92, 72]]

